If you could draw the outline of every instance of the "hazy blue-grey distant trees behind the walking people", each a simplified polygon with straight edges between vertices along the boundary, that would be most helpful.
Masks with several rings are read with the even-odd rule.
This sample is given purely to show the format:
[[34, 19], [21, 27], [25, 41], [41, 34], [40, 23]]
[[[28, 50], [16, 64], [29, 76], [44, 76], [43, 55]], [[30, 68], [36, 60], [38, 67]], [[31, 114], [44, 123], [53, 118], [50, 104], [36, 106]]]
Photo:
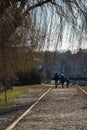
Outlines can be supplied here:
[[87, 49], [80, 48], [76, 53], [47, 51], [44, 56], [44, 70], [50, 71], [52, 76], [55, 72], [66, 76], [87, 76]]

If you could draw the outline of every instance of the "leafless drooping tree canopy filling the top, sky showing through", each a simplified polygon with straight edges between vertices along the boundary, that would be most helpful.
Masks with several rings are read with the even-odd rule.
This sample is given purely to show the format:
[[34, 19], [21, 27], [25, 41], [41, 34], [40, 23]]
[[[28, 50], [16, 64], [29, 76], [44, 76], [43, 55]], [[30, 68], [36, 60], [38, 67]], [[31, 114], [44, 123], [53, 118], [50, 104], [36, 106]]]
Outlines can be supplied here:
[[4, 65], [8, 57], [12, 61], [14, 48], [27, 46], [29, 52], [59, 48], [65, 32], [70, 43], [86, 40], [87, 0], [0, 0], [0, 60]]

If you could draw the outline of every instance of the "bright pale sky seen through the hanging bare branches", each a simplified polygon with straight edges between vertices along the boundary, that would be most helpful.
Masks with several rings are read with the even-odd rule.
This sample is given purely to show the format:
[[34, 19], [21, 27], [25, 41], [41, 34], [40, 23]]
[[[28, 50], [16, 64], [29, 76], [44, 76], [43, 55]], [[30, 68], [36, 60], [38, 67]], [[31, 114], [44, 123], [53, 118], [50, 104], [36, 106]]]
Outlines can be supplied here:
[[[43, 36], [44, 32], [46, 33], [44, 50], [71, 50], [72, 52], [74, 52], [79, 48], [87, 49], [86, 40], [82, 41], [82, 43], [79, 43], [79, 41], [77, 40], [78, 36], [75, 35], [74, 37], [73, 34], [71, 34], [72, 28], [70, 26], [68, 27], [67, 24], [63, 23], [64, 31], [62, 31], [61, 25], [59, 24], [61, 19], [59, 18], [58, 14], [55, 13], [55, 8], [51, 9], [50, 7], [47, 7], [47, 11], [45, 11], [45, 8], [43, 8], [42, 11], [41, 8], [39, 8], [39, 10], [35, 9], [35, 12], [36, 11], [36, 23], [37, 26], [39, 25], [38, 29], [40, 26], [43, 26], [41, 30]], [[81, 21], [78, 22], [80, 25]]]

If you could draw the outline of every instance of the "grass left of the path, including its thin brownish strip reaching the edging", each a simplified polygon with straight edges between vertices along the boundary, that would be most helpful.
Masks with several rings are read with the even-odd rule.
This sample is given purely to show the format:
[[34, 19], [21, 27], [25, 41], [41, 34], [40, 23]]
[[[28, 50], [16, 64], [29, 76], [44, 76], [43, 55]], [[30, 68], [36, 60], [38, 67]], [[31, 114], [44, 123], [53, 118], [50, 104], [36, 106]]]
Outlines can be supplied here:
[[29, 88], [32, 89], [48, 89], [48, 86], [44, 85], [28, 85], [22, 87], [14, 87], [13, 92], [11, 90], [7, 91], [7, 103], [5, 103], [5, 94], [0, 93], [0, 107], [10, 105], [14, 102], [14, 99], [22, 94], [27, 94], [29, 92]]

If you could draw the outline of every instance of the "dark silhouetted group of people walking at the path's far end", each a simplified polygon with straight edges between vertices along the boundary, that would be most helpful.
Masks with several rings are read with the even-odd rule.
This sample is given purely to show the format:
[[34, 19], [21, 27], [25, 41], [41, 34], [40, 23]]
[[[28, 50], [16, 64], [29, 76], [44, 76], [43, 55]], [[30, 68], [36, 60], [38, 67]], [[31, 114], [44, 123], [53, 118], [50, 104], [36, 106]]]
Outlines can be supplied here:
[[61, 82], [62, 88], [64, 88], [64, 83], [65, 82], [66, 82], [67, 88], [69, 87], [69, 79], [65, 78], [64, 74], [61, 74], [61, 76], [59, 76], [57, 73], [55, 73], [54, 74], [54, 80], [55, 80], [55, 88], [57, 88], [58, 81]]

